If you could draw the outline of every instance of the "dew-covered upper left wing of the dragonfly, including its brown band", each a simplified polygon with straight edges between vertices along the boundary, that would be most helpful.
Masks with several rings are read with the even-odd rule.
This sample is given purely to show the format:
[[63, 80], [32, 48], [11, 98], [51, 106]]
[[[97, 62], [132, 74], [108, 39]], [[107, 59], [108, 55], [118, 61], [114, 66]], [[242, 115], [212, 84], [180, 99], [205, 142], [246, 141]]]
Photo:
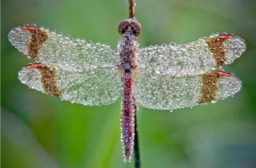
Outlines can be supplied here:
[[90, 70], [113, 67], [118, 55], [108, 44], [73, 39], [48, 28], [21, 26], [11, 30], [8, 39], [20, 52], [50, 67], [65, 70]]

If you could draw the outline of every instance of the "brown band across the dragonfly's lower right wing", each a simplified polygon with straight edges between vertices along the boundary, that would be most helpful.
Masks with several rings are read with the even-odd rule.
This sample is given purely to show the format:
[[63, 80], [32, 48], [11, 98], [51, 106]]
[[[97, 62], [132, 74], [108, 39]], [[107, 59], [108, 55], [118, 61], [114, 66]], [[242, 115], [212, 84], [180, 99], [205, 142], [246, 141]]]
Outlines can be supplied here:
[[215, 71], [205, 73], [201, 76], [201, 96], [196, 103], [208, 103], [215, 100], [216, 91], [218, 90], [218, 82], [220, 75]]

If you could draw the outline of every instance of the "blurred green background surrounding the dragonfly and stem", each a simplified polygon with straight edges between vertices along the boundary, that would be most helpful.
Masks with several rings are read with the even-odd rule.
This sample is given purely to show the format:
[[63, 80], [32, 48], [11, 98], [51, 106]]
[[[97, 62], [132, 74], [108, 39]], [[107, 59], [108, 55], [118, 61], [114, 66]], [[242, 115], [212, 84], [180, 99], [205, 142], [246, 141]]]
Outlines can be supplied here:
[[[243, 81], [233, 98], [195, 108], [157, 111], [140, 107], [142, 167], [256, 167], [256, 2], [136, 1], [140, 47], [186, 43], [214, 32], [243, 37], [247, 51], [227, 72]], [[83, 106], [28, 89], [17, 72], [29, 62], [8, 42], [12, 27], [50, 27], [116, 49], [117, 25], [127, 1], [2, 0], [1, 166], [134, 167], [124, 163], [120, 100]]]

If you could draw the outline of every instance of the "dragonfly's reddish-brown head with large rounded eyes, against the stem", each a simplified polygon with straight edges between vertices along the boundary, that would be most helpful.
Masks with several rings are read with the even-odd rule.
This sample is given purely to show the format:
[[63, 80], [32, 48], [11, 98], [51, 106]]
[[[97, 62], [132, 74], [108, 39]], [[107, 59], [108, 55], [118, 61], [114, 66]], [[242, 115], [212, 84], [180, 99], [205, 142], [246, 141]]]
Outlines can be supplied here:
[[135, 19], [125, 19], [124, 21], [121, 21], [118, 26], [119, 34], [122, 35], [127, 31], [131, 31], [136, 36], [138, 36], [141, 31], [140, 23], [137, 22]]

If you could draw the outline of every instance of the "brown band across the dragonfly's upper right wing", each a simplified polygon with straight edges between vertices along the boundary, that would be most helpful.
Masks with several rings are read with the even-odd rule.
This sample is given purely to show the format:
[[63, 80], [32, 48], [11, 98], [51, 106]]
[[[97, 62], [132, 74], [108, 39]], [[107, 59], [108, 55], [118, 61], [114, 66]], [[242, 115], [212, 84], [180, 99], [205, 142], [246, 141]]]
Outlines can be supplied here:
[[223, 42], [224, 38], [209, 38], [207, 43], [209, 46], [209, 49], [211, 50], [211, 53], [213, 53], [213, 57], [216, 60], [216, 67], [222, 67], [227, 60], [225, 57]]

